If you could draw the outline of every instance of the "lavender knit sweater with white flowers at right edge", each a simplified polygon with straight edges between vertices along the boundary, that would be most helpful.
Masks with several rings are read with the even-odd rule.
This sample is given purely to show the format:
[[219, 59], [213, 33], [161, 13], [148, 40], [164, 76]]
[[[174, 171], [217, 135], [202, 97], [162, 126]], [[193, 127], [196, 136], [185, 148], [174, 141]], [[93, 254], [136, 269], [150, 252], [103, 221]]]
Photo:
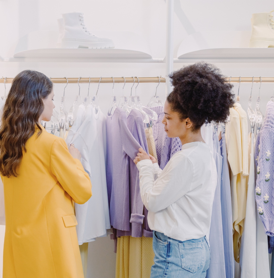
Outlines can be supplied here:
[[274, 102], [267, 103], [263, 126], [255, 146], [257, 183], [255, 196], [257, 210], [268, 236], [274, 236]]

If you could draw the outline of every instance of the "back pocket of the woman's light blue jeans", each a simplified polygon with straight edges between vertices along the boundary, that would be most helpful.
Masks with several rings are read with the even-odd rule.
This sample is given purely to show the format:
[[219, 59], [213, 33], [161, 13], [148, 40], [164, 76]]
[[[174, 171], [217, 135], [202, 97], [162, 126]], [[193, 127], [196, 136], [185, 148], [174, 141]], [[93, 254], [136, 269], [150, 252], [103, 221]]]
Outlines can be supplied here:
[[195, 273], [204, 266], [204, 250], [202, 241], [179, 243], [182, 268]]

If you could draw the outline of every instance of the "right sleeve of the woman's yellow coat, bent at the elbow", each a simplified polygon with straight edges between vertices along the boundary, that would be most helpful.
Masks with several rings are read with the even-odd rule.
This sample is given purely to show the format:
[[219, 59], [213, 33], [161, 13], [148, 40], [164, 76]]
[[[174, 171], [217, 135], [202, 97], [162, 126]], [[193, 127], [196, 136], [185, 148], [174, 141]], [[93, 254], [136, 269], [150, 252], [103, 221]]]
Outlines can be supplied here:
[[90, 199], [89, 175], [81, 162], [71, 156], [66, 142], [61, 138], [56, 138], [51, 147], [51, 171], [74, 202], [84, 204]]

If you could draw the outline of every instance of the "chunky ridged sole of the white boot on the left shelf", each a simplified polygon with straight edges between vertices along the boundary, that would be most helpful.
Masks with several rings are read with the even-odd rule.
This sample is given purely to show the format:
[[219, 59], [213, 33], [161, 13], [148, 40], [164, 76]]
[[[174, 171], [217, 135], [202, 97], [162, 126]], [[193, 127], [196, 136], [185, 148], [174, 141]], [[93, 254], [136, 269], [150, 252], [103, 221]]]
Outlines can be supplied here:
[[94, 39], [92, 42], [92, 40], [86, 39], [63, 38], [61, 48], [114, 48], [114, 43], [110, 39]]

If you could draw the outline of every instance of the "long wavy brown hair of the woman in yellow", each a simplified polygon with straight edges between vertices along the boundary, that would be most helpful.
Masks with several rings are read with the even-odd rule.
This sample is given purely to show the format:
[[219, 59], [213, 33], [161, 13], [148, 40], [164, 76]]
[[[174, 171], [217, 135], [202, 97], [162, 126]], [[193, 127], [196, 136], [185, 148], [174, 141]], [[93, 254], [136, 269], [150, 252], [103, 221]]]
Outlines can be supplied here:
[[4, 104], [0, 127], [0, 172], [17, 176], [17, 169], [26, 152], [27, 140], [38, 128], [44, 111], [43, 99], [52, 91], [52, 82], [41, 72], [25, 70], [17, 74]]

